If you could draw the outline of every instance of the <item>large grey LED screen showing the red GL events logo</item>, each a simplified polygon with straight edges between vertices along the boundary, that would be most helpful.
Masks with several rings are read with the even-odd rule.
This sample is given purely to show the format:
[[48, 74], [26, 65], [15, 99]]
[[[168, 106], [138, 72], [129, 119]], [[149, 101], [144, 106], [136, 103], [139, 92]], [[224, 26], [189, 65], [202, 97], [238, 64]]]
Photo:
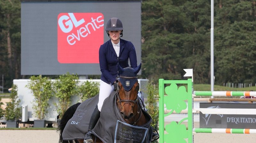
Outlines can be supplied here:
[[112, 17], [122, 21], [122, 39], [133, 43], [140, 64], [140, 15], [140, 1], [21, 1], [21, 74], [101, 74], [99, 48]]

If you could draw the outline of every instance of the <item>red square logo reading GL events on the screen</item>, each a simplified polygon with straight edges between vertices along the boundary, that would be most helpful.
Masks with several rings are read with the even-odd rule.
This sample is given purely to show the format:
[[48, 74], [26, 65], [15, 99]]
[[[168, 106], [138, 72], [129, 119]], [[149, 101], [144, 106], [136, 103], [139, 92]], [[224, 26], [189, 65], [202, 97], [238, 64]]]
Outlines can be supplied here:
[[104, 42], [102, 13], [60, 13], [58, 15], [58, 61], [60, 63], [99, 63]]

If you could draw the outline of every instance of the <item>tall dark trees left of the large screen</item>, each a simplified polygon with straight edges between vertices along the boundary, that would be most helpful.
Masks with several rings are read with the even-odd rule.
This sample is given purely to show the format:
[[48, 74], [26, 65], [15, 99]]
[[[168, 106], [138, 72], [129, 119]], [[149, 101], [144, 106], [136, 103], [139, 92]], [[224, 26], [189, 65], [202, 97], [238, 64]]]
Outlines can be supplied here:
[[4, 87], [20, 79], [20, 0], [0, 1], [0, 75]]

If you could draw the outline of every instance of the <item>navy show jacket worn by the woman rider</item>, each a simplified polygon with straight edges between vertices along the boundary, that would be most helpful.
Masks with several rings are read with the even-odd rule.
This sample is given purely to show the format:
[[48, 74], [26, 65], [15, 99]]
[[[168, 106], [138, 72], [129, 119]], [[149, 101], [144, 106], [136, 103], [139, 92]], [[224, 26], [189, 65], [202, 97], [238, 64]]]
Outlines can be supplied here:
[[116, 51], [111, 40], [102, 44], [99, 50], [101, 71], [100, 79], [108, 84], [113, 84], [116, 81], [116, 76], [118, 75], [116, 67], [117, 63], [119, 63], [122, 68], [128, 67], [128, 59], [130, 59], [131, 67], [136, 68], [137, 56], [132, 42], [120, 39], [119, 56], [116, 55]]

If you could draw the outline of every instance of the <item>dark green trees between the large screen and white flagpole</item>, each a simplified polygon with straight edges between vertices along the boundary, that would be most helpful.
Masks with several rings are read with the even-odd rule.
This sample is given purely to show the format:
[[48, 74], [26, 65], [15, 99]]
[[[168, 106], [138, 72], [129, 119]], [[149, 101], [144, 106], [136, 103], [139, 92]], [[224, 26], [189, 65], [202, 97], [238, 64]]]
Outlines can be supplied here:
[[210, 3], [203, 0], [143, 1], [143, 78], [181, 79], [183, 69], [193, 67], [194, 74], [202, 75], [195, 81], [207, 82], [209, 16]]

